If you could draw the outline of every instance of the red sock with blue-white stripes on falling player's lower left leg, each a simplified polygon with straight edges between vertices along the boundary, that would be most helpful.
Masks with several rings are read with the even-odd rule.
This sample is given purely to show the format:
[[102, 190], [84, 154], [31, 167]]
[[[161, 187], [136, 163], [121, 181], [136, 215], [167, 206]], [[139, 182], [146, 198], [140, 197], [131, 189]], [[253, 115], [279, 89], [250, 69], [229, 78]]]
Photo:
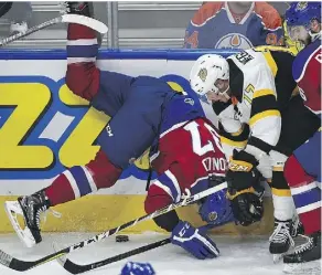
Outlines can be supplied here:
[[109, 188], [120, 174], [121, 169], [114, 166], [100, 150], [88, 165], [76, 166], [61, 173], [45, 189], [45, 193], [51, 205], [57, 205], [96, 192], [98, 189]]

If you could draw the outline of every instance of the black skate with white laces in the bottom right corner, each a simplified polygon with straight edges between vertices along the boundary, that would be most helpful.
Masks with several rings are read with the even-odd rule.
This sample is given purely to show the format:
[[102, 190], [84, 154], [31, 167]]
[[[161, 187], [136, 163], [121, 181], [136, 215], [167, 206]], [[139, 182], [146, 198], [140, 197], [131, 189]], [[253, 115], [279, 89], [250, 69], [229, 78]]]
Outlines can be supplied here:
[[307, 243], [296, 247], [294, 253], [285, 255], [285, 273], [321, 274], [321, 232], [307, 236]]

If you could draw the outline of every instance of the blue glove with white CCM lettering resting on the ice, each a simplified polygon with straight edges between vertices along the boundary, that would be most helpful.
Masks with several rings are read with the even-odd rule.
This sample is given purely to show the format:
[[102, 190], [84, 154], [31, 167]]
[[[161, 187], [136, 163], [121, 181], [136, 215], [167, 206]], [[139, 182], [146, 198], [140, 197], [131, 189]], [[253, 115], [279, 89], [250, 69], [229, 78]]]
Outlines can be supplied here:
[[195, 229], [189, 222], [180, 221], [172, 231], [171, 242], [183, 247], [200, 260], [219, 255], [216, 244], [205, 234], [206, 229]]

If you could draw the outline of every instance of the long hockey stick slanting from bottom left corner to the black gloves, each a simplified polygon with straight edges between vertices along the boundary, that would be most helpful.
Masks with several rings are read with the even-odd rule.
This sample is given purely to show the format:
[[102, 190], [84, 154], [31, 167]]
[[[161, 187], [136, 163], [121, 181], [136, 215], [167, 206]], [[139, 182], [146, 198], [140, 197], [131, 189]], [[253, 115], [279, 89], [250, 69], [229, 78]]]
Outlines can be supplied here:
[[132, 220], [130, 222], [127, 222], [127, 223], [124, 223], [122, 225], [118, 226], [118, 228], [115, 228], [115, 229], [111, 229], [111, 230], [108, 230], [108, 231], [105, 231], [100, 234], [97, 234], [90, 239], [87, 239], [85, 241], [82, 241], [82, 242], [78, 242], [76, 244], [73, 244], [66, 248], [63, 248], [58, 252], [55, 252], [55, 253], [52, 253], [47, 256], [44, 256], [40, 260], [36, 260], [36, 261], [22, 261], [22, 260], [19, 260], [19, 258], [15, 258], [9, 254], [7, 254], [6, 252], [1, 251], [0, 250], [0, 264], [11, 268], [11, 269], [14, 269], [14, 271], [19, 271], [19, 272], [23, 272], [23, 271], [28, 271], [28, 269], [31, 269], [31, 268], [34, 268], [39, 265], [42, 265], [42, 264], [45, 264], [47, 262], [51, 262], [55, 258], [58, 258], [61, 256], [64, 256], [73, 251], [76, 251], [76, 250], [79, 250], [79, 248], [83, 248], [89, 244], [93, 244], [93, 243], [97, 243], [97, 242], [100, 242], [101, 240], [106, 239], [106, 237], [109, 237], [111, 235], [115, 235], [116, 233], [118, 233], [119, 231], [124, 230], [124, 229], [128, 229], [128, 228], [131, 228], [131, 226], [135, 226], [137, 225], [138, 223], [140, 222], [143, 222], [143, 221], [147, 221], [147, 220], [151, 220], [155, 216], [159, 216], [159, 215], [162, 215], [162, 214], [165, 214], [176, 208], [180, 208], [180, 207], [184, 207], [184, 205], [187, 205], [190, 203], [193, 203], [200, 199], [203, 199], [212, 193], [215, 193], [219, 190], [223, 190], [227, 188], [227, 182], [223, 182], [216, 187], [213, 187], [213, 188], [210, 188], [205, 191], [202, 191], [197, 194], [194, 194], [194, 195], [190, 195], [190, 197], [186, 197], [182, 200], [180, 200], [179, 202], [176, 203], [172, 203], [168, 207], [164, 207], [160, 210], [157, 210], [154, 211], [153, 213], [151, 214], [147, 214], [147, 215], [142, 215], [136, 220]]

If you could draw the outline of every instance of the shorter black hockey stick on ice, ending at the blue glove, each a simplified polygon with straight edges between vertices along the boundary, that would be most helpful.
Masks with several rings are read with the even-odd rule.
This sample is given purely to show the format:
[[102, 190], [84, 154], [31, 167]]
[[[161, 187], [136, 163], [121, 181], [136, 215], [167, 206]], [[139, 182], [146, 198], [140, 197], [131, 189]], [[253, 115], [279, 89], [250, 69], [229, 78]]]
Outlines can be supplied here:
[[164, 239], [162, 241], [158, 241], [155, 243], [150, 243], [147, 244], [144, 246], [118, 254], [116, 256], [111, 256], [101, 261], [98, 261], [96, 263], [92, 263], [92, 264], [86, 264], [86, 265], [78, 265], [75, 264], [74, 262], [72, 262], [71, 260], [68, 260], [66, 256], [63, 256], [61, 258], [57, 258], [57, 262], [69, 273], [72, 274], [79, 274], [79, 273], [84, 273], [84, 272], [89, 272], [96, 268], [99, 268], [101, 266], [108, 265], [108, 264], [112, 264], [115, 262], [121, 261], [124, 258], [127, 257], [131, 257], [133, 255], [138, 255], [140, 253], [150, 251], [150, 250], [154, 250], [157, 247], [163, 246], [165, 244], [171, 243], [171, 239]]

